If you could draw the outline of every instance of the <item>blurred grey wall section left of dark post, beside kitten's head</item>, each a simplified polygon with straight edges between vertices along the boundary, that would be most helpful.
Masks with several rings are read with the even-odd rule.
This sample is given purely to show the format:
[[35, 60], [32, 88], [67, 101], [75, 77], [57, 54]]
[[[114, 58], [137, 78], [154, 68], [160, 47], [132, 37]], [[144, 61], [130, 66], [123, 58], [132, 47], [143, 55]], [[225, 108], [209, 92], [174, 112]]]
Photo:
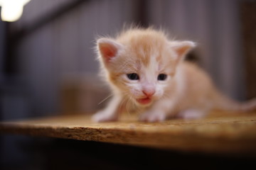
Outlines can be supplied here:
[[[29, 29], [33, 23], [70, 2], [33, 0], [25, 6], [23, 16], [14, 23], [13, 30]], [[63, 84], [74, 84], [67, 81], [94, 85], [98, 70], [93, 50], [95, 38], [116, 33], [124, 22], [131, 23], [133, 4], [134, 1], [129, 0], [83, 1], [27, 33], [18, 42], [15, 55], [33, 115], [60, 112], [60, 88]]]

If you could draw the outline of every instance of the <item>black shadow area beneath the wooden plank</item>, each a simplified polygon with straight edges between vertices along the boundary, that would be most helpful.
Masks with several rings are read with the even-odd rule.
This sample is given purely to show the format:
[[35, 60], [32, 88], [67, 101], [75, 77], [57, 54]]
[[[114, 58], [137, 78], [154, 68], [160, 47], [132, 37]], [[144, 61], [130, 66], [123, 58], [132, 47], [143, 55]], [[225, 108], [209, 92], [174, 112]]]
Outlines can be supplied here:
[[[252, 157], [176, 152], [103, 142], [30, 137], [19, 143], [28, 161], [3, 164], [2, 169], [245, 169]], [[13, 161], [14, 162], [14, 161]]]

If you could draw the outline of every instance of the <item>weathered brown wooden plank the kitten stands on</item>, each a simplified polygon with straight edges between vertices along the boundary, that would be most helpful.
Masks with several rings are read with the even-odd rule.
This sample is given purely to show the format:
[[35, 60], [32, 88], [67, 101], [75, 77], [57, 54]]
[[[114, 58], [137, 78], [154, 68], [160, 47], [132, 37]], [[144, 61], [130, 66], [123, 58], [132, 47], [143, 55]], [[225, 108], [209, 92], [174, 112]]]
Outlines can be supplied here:
[[201, 120], [142, 123], [134, 116], [93, 123], [89, 115], [0, 123], [1, 133], [112, 142], [193, 152], [256, 155], [256, 113], [212, 113]]

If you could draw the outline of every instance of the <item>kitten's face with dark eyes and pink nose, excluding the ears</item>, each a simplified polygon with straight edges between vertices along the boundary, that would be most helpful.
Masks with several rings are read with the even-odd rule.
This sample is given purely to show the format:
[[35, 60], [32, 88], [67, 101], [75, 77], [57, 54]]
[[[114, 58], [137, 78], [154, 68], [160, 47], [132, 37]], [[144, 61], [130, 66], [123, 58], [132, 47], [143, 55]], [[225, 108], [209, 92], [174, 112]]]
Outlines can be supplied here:
[[145, 51], [124, 47], [107, 68], [112, 84], [138, 105], [148, 106], [165, 94], [174, 79], [176, 63], [169, 49]]

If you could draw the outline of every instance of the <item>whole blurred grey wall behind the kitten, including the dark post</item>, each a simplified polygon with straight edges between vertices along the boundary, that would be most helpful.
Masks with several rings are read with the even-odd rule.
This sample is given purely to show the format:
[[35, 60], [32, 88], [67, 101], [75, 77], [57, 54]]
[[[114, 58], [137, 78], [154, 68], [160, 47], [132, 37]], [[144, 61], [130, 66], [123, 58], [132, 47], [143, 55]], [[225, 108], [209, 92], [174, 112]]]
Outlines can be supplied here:
[[[34, 23], [71, 2], [76, 1], [32, 0], [25, 6], [22, 18], [11, 23], [13, 32], [28, 30], [14, 49], [19, 67], [16, 77], [21, 81], [22, 98], [26, 98], [22, 101], [26, 103], [21, 105], [29, 107], [25, 109], [30, 111], [28, 116], [60, 112], [63, 84], [80, 84], [79, 88], [87, 86], [87, 89], [99, 85], [98, 64], [93, 52], [95, 38], [114, 35], [124, 23], [153, 25], [177, 38], [195, 40], [199, 64], [210, 73], [215, 84], [228, 96], [244, 99], [240, 1], [82, 1], [53, 20], [33, 27]], [[12, 104], [9, 101], [5, 108]], [[85, 104], [80, 102], [82, 105]], [[15, 113], [6, 111], [6, 114]]]

